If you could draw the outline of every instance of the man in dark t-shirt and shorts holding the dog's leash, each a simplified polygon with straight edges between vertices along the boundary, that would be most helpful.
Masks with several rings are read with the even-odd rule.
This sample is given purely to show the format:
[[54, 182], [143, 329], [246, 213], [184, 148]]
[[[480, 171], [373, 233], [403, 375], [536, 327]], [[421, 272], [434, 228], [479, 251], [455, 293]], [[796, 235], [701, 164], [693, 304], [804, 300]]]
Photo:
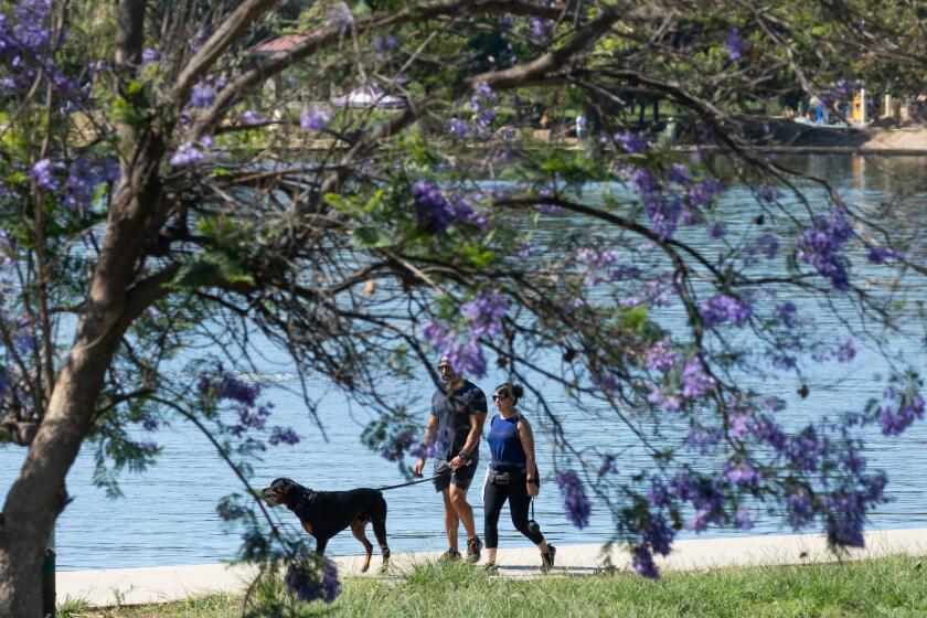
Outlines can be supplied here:
[[[444, 386], [431, 395], [431, 414], [425, 428], [425, 445], [434, 440], [435, 490], [445, 500], [445, 531], [448, 550], [441, 555], [446, 561], [460, 560], [457, 550], [457, 529], [460, 523], [467, 531], [467, 562], [479, 562], [482, 542], [473, 525], [473, 509], [467, 503], [467, 490], [479, 464], [479, 446], [486, 422], [486, 393], [454, 371], [447, 356], [438, 362]], [[425, 459], [413, 467], [420, 477]]]

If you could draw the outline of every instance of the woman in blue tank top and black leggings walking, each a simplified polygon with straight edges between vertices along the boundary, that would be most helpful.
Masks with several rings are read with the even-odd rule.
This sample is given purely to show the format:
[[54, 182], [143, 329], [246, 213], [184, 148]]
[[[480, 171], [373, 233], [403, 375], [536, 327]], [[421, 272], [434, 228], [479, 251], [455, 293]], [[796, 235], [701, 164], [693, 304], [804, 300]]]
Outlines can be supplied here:
[[515, 408], [523, 395], [524, 390], [511, 382], [497, 386], [492, 395], [499, 414], [490, 420], [488, 435], [491, 460], [483, 491], [486, 567], [496, 568], [499, 514], [508, 500], [512, 523], [537, 546], [541, 569], [547, 572], [554, 566], [556, 547], [547, 545], [540, 526], [528, 520], [528, 508], [531, 499], [537, 496], [540, 482], [534, 465], [534, 435], [528, 419]]

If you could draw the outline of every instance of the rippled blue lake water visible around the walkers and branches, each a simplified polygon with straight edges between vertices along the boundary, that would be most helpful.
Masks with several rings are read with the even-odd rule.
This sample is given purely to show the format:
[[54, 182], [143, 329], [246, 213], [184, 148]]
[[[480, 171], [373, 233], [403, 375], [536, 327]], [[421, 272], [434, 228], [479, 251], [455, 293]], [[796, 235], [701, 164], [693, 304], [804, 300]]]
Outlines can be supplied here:
[[[809, 156], [789, 159], [797, 167], [830, 179], [845, 199], [865, 203], [877, 213], [888, 227], [898, 230], [924, 227], [927, 211], [921, 194], [907, 194], [904, 202], [887, 206], [886, 201], [895, 191], [912, 189], [904, 179], [927, 178], [927, 159], [923, 158], [860, 158]], [[596, 191], [590, 188], [590, 191]], [[743, 191], [733, 190], [723, 199], [725, 207], [737, 212], [747, 222], [753, 217], [744, 204]], [[746, 223], [744, 223], [746, 224]], [[924, 252], [918, 258], [924, 262]], [[861, 266], [862, 267], [862, 266]], [[927, 294], [915, 290], [918, 298]], [[827, 329], [825, 316], [818, 322]], [[833, 327], [834, 324], [830, 324]], [[905, 348], [908, 361], [924, 363], [924, 342], [912, 340]], [[262, 486], [281, 476], [291, 477], [313, 489], [349, 489], [381, 487], [403, 482], [402, 476], [390, 464], [360, 444], [362, 428], [374, 415], [356, 404], [352, 405], [338, 395], [326, 382], [311, 381], [308, 386], [313, 398], [320, 401], [319, 415], [324, 423], [328, 441], [323, 440], [305, 412], [296, 374], [285, 353], [268, 345], [255, 355], [262, 380], [271, 386], [266, 397], [276, 404], [273, 424], [292, 426], [302, 436], [296, 446], [270, 448], [263, 461], [255, 465], [254, 483]], [[786, 422], [807, 422], [837, 409], [860, 409], [863, 402], [877, 397], [885, 366], [874, 354], [861, 353], [848, 364], [827, 364], [810, 367], [809, 383], [814, 387], [803, 401], [795, 393], [791, 376], [764, 380], [766, 392], [784, 396], [789, 407]], [[179, 377], [183, 380], [184, 377]], [[192, 379], [192, 377], [190, 377]], [[486, 379], [478, 381], [487, 391], [505, 380], [505, 375], [490, 369]], [[628, 473], [646, 466], [639, 445], [618, 419], [609, 415], [600, 418], [579, 416], [571, 411], [557, 387], [541, 384], [552, 407], [563, 416], [566, 434], [579, 449], [609, 447], [621, 452], [618, 468]], [[433, 386], [426, 377], [417, 383], [384, 384], [385, 392], [417, 397], [420, 404], [413, 412], [427, 418]], [[529, 398], [524, 409], [531, 416]], [[546, 438], [543, 418], [535, 418], [539, 441], [539, 465], [550, 472], [551, 443]], [[173, 564], [202, 564], [230, 560], [239, 544], [236, 533], [223, 529], [215, 513], [220, 498], [241, 491], [234, 475], [215, 456], [206, 439], [192, 426], [177, 422], [173, 427], [152, 436], [164, 447], [157, 466], [143, 476], [125, 475], [121, 488], [124, 499], [109, 500], [92, 483], [93, 452], [82, 451], [68, 479], [67, 489], [74, 501], [67, 507], [56, 528], [57, 563], [61, 569], [89, 569], [138, 567]], [[483, 460], [487, 447], [481, 447]], [[927, 528], [927, 424], [915, 424], [902, 438], [876, 437], [869, 445], [872, 468], [884, 468], [889, 476], [889, 493], [894, 501], [881, 507], [872, 515], [872, 529]], [[23, 458], [22, 449], [0, 447], [0, 491], [6, 493]], [[387, 531], [393, 551], [443, 551], [443, 504], [428, 483], [392, 490], [386, 493], [390, 508]], [[481, 529], [482, 508], [479, 489], [475, 484], [470, 503], [475, 505], [478, 529]], [[508, 511], [507, 511], [508, 512]], [[296, 518], [280, 513], [283, 521], [296, 529]], [[608, 540], [611, 516], [604, 509], [595, 509], [590, 525], [575, 529], [564, 516], [561, 497], [553, 482], [544, 483], [536, 501], [536, 519], [553, 543], [599, 543]], [[789, 529], [771, 520], [760, 520], [749, 533], [728, 530], [710, 530], [703, 535], [776, 534]], [[481, 534], [481, 532], [480, 532]], [[682, 533], [683, 535], [691, 533]], [[462, 543], [462, 532], [461, 532]], [[524, 545], [526, 542], [512, 530], [503, 513], [500, 522], [500, 546]], [[359, 543], [350, 532], [342, 533], [329, 544], [330, 554], [355, 554]]]

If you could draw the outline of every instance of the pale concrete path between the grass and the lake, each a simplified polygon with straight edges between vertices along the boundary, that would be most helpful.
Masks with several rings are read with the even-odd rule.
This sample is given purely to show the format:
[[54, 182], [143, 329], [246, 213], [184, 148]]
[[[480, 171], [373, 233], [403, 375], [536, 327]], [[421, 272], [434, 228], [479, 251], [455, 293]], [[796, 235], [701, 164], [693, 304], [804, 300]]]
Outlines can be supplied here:
[[[927, 555], [927, 529], [888, 530], [866, 533], [866, 548], [850, 552], [852, 560], [891, 554]], [[398, 571], [434, 561], [438, 553], [394, 554]], [[568, 575], [595, 573], [604, 563], [600, 545], [558, 545], [556, 572]], [[359, 575], [360, 556], [338, 556], [342, 575]], [[611, 563], [627, 567], [630, 558], [624, 548], [615, 547]], [[721, 566], [803, 564], [829, 562], [835, 556], [827, 551], [819, 534], [766, 535], [737, 539], [690, 539], [673, 543], [673, 553], [658, 564], [667, 569], [701, 569]], [[532, 577], [539, 574], [540, 557], [534, 547], [500, 548], [497, 556], [500, 574]], [[380, 567], [374, 555], [371, 574]], [[164, 603], [215, 592], [243, 589], [254, 571], [247, 566], [205, 564], [194, 566], [159, 566], [151, 568], [114, 568], [72, 571], [57, 574], [57, 600], [83, 599], [95, 606]], [[366, 575], [369, 576], [369, 575]]]

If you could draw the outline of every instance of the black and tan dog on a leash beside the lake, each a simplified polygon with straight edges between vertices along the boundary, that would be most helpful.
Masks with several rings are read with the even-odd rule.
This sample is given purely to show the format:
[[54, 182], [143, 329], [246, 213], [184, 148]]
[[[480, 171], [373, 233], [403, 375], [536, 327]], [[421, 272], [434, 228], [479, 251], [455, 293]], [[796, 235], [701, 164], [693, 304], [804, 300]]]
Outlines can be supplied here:
[[312, 491], [291, 479], [276, 479], [262, 496], [271, 507], [283, 504], [299, 518], [303, 530], [316, 539], [316, 551], [326, 552], [329, 540], [348, 528], [354, 539], [364, 546], [364, 564], [361, 573], [370, 567], [373, 545], [366, 539], [367, 522], [373, 524], [373, 534], [383, 554], [383, 567], [390, 561], [386, 545], [386, 500], [375, 489], [351, 489], [348, 491]]

